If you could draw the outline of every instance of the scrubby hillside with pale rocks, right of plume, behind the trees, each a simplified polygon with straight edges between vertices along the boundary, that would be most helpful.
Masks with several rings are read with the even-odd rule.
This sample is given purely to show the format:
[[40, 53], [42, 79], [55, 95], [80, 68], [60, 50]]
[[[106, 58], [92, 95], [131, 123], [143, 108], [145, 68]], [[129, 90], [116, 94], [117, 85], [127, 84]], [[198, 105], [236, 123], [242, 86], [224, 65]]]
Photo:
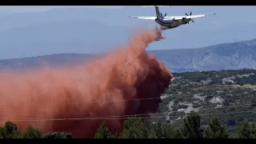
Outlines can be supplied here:
[[218, 119], [230, 130], [244, 119], [256, 121], [256, 70], [221, 70], [174, 73], [159, 105], [162, 121], [181, 123], [190, 111]]

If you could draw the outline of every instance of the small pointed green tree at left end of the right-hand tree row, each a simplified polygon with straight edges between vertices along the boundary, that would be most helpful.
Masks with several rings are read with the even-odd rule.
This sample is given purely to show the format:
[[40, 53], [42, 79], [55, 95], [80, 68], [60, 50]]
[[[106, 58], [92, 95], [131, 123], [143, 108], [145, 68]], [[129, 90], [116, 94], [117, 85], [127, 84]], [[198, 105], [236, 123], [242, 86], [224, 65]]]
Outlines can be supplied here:
[[102, 122], [102, 125], [98, 127], [94, 138], [115, 138], [115, 135], [111, 134], [109, 128], [106, 126], [106, 123]]

